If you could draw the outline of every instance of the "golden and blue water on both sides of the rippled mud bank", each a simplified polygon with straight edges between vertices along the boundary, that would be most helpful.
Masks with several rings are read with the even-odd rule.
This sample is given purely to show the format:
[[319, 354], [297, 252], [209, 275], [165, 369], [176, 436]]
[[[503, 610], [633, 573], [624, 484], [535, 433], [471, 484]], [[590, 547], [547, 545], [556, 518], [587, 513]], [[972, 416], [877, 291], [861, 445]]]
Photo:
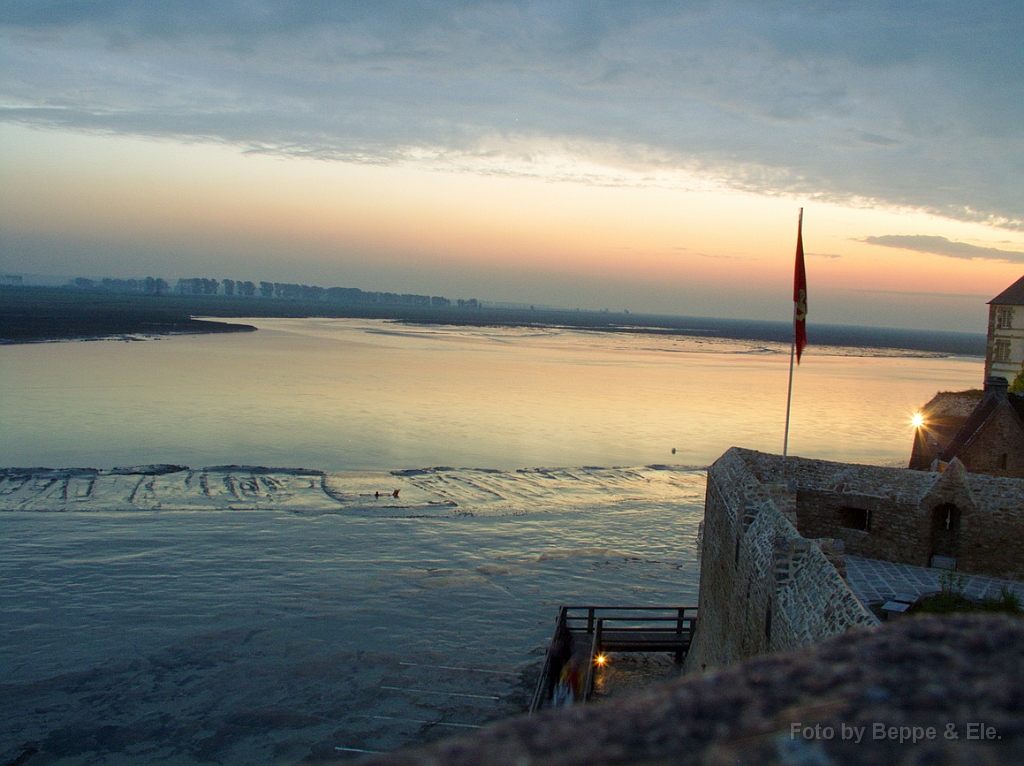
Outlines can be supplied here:
[[[0, 347], [0, 464], [451, 465], [507, 482], [781, 449], [786, 348], [251, 324]], [[850, 354], [805, 355], [794, 453], [902, 463], [913, 409], [982, 375], [980, 359]], [[0, 763], [36, 742], [48, 764], [293, 764], [513, 715], [559, 604], [695, 603], [702, 484], [694, 468], [580, 503], [569, 485], [556, 510], [499, 517], [4, 513]]]

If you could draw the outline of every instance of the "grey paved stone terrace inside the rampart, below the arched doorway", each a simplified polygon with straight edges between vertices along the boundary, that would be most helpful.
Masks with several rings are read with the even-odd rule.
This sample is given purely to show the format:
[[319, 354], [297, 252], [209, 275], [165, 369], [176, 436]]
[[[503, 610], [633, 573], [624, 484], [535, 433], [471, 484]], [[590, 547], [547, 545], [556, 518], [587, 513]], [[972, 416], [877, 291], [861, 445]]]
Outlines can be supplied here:
[[[923, 596], [942, 589], [945, 569], [910, 566], [859, 556], [846, 557], [846, 582], [857, 598], [867, 603], [889, 601], [893, 596]], [[998, 598], [1009, 588], [1024, 601], [1024, 583], [957, 572], [964, 595], [969, 598]]]

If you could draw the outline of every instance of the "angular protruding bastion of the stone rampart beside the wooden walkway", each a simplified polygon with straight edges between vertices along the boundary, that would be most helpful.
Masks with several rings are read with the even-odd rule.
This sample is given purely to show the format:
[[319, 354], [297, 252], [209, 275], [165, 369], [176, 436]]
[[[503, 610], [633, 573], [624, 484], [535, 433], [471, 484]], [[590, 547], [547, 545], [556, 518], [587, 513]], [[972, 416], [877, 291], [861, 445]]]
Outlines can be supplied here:
[[[732, 449], [708, 471], [699, 618], [687, 671], [796, 648], [878, 621], [833, 561], [842, 543], [801, 537], [796, 496]], [[830, 560], [831, 559], [831, 560]]]

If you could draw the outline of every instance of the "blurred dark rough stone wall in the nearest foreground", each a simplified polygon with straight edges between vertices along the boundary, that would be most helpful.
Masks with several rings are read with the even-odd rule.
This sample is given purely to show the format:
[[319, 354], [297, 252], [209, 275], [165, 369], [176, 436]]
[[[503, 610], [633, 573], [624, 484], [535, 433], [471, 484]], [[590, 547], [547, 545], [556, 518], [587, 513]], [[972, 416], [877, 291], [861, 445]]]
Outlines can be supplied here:
[[907, 618], [370, 763], [1016, 766], [1021, 645], [1012, 618]]

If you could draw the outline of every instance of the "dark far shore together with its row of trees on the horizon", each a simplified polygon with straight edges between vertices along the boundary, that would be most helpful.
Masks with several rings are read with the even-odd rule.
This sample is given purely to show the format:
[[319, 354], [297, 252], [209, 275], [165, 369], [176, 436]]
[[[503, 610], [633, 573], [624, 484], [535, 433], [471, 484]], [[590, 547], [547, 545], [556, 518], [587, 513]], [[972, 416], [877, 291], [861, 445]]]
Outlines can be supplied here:
[[[232, 282], [232, 281], [228, 281]], [[239, 285], [242, 292], [239, 292]], [[250, 292], [248, 285], [252, 285]], [[559, 327], [579, 330], [680, 335], [788, 344], [793, 324], [757, 320], [513, 308], [428, 296], [368, 293], [352, 288], [318, 289], [302, 285], [180, 280], [174, 289], [162, 280], [73, 281], [61, 288], [25, 287], [0, 280], [0, 343], [105, 337], [123, 333], [238, 332], [246, 326], [197, 324], [191, 317], [331, 316], [378, 318], [414, 324], [468, 327]], [[303, 293], [303, 290], [309, 292]], [[257, 295], [257, 291], [259, 294]], [[247, 295], [248, 294], [248, 295]], [[155, 299], [155, 295], [162, 296]], [[265, 297], [264, 297], [265, 296]], [[304, 297], [308, 296], [308, 297]], [[249, 299], [247, 299], [249, 298]], [[472, 310], [467, 310], [467, 308]], [[811, 325], [811, 350], [818, 346], [859, 346], [983, 358], [984, 333], [950, 333], [877, 327]]]

